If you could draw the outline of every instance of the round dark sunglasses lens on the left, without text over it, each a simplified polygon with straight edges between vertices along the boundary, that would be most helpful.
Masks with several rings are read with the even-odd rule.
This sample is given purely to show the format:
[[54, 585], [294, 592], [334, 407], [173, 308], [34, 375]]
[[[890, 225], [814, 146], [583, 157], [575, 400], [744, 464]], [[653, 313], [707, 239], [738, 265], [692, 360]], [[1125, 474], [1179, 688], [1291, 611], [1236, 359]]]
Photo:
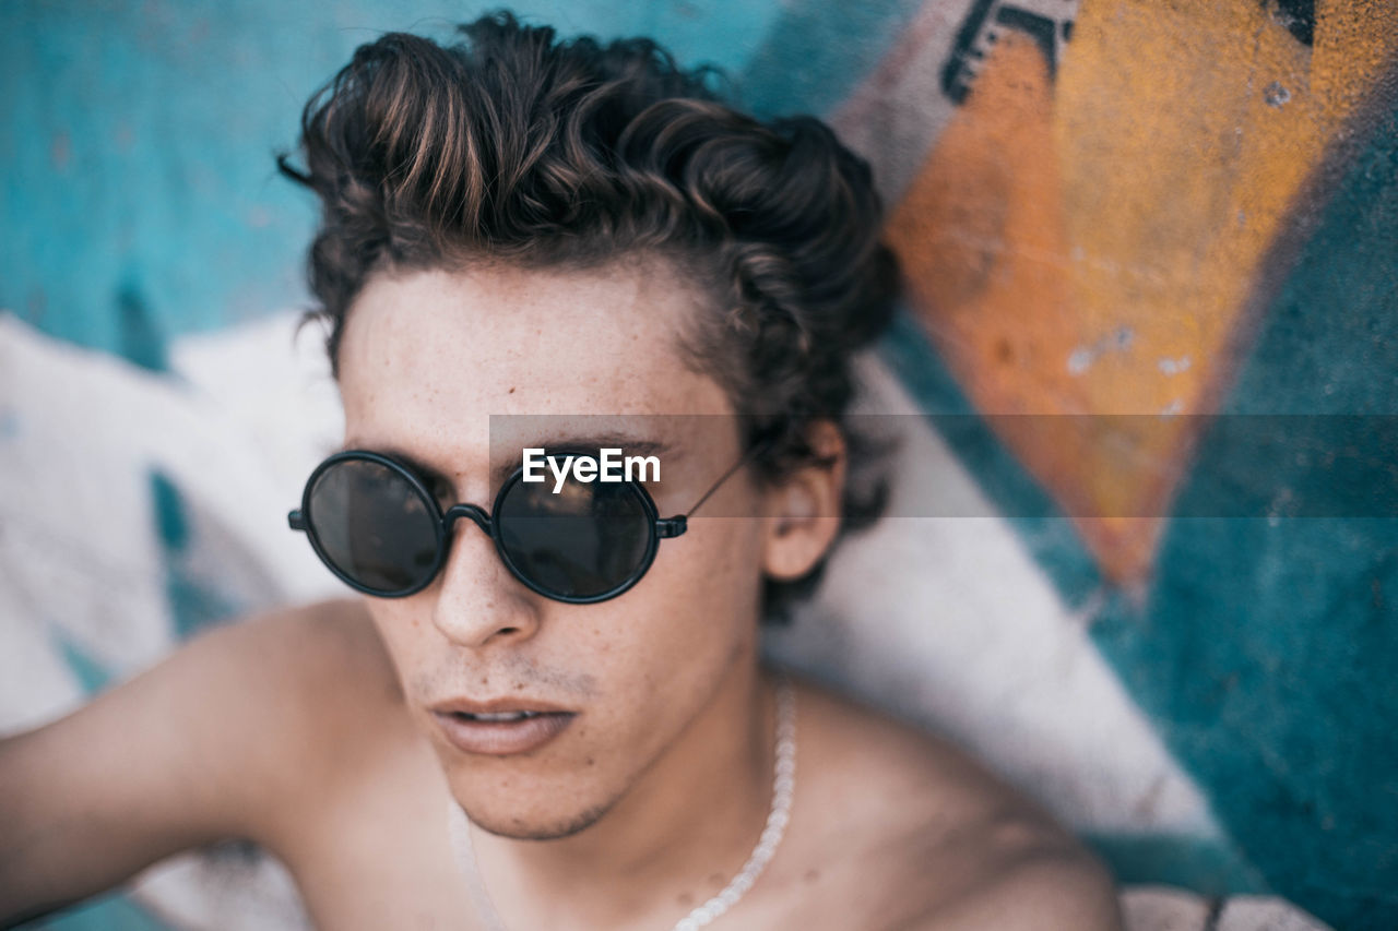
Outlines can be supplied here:
[[436, 563], [438, 521], [424, 493], [396, 468], [347, 459], [310, 489], [308, 520], [324, 559], [380, 593], [426, 582]]

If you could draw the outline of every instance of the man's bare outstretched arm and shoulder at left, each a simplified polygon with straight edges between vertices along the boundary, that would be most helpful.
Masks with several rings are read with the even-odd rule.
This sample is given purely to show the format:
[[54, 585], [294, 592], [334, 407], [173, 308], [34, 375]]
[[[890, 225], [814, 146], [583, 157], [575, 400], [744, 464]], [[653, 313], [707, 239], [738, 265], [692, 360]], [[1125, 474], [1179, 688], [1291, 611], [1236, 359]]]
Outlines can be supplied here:
[[218, 629], [0, 741], [0, 925], [225, 837], [275, 851], [316, 784], [308, 699], [354, 651], [330, 633], [343, 619], [317, 605]]

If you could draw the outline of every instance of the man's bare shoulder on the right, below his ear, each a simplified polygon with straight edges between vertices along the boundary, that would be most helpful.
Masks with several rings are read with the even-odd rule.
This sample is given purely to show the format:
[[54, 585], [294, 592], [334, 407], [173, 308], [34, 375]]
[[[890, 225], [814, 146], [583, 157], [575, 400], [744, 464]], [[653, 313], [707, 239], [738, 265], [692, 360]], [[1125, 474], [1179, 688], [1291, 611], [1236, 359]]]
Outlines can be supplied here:
[[830, 885], [864, 890], [867, 927], [1121, 927], [1096, 857], [966, 752], [826, 689], [798, 696], [798, 769], [819, 802], [804, 843], [840, 851]]

